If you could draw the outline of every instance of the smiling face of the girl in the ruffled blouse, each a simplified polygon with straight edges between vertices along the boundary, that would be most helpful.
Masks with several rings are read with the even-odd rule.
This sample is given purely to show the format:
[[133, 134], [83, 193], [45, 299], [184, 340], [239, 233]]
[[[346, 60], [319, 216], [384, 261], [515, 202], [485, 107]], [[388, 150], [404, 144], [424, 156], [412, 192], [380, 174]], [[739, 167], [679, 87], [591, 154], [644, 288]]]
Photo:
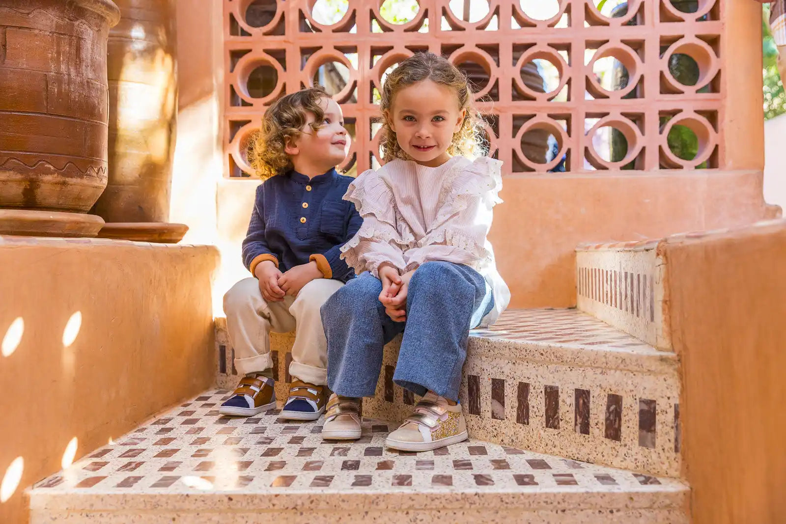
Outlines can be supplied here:
[[449, 86], [424, 80], [395, 93], [385, 114], [402, 150], [422, 166], [437, 167], [450, 159], [447, 149], [466, 110]]

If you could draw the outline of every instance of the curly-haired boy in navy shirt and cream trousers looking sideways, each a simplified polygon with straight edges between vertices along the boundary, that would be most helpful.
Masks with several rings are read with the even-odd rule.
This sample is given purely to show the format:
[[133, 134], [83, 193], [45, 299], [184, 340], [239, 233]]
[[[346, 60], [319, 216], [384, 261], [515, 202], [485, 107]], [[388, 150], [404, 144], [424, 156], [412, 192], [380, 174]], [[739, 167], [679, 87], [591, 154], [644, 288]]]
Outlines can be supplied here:
[[316, 420], [325, 411], [327, 342], [319, 310], [354, 278], [340, 247], [362, 224], [342, 198], [353, 178], [335, 169], [348, 140], [341, 108], [321, 87], [282, 97], [265, 113], [251, 155], [265, 181], [243, 242], [243, 262], [255, 278], [224, 296], [235, 367], [244, 378], [221, 405], [223, 415], [276, 406], [269, 334], [293, 329], [292, 387], [281, 417]]

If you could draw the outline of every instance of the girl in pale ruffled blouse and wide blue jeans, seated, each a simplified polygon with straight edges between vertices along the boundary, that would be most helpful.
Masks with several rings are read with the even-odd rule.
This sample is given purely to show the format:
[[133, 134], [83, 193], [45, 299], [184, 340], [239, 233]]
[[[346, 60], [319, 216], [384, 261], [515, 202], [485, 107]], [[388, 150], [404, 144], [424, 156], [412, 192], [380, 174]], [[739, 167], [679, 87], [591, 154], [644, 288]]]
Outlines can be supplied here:
[[364, 222], [343, 256], [362, 274], [321, 309], [335, 392], [324, 438], [360, 437], [358, 399], [374, 394], [383, 346], [401, 332], [393, 379], [424, 398], [387, 445], [425, 451], [467, 438], [457, 399], [469, 330], [493, 323], [510, 298], [486, 238], [501, 163], [466, 158], [479, 129], [471, 104], [465, 75], [435, 54], [387, 76], [387, 163], [344, 196]]

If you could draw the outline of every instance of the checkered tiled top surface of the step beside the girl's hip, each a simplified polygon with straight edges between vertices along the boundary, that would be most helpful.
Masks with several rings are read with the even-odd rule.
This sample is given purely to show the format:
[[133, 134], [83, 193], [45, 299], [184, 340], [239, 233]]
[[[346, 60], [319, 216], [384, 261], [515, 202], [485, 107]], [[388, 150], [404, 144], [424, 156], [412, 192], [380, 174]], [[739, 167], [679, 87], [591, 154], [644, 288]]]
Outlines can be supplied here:
[[579, 310], [508, 310], [473, 336], [523, 343], [604, 346], [611, 350], [652, 350], [641, 340]]

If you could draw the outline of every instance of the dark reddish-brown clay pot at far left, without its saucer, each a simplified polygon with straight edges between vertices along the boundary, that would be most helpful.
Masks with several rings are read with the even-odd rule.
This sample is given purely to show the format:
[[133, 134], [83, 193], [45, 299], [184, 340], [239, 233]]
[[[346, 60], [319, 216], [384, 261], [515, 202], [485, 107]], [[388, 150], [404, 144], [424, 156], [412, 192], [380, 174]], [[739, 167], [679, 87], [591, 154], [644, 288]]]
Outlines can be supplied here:
[[88, 211], [107, 183], [110, 0], [0, 0], [0, 207]]

